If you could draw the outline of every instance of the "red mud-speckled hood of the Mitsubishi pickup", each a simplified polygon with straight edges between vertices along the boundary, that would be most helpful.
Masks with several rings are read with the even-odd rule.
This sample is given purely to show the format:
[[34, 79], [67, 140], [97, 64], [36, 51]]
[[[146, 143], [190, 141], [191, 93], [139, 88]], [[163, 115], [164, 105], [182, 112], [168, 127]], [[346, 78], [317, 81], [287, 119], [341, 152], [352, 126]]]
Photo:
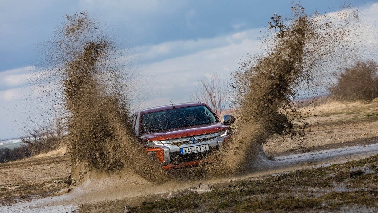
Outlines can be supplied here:
[[143, 141], [162, 141], [174, 138], [183, 138], [194, 135], [210, 134], [214, 132], [221, 132], [229, 130], [230, 127], [223, 125], [222, 122], [214, 122], [211, 124], [201, 124], [189, 127], [182, 127], [170, 130], [163, 130], [161, 132], [154, 132], [150, 134], [139, 134]]

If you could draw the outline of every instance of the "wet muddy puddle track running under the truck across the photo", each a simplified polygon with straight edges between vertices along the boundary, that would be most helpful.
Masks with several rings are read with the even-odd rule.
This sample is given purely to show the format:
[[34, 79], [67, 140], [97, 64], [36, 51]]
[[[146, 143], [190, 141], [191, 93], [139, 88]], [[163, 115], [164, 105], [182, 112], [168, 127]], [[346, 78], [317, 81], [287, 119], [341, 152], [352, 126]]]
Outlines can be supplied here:
[[250, 171], [238, 177], [188, 180], [181, 183], [172, 181], [160, 185], [154, 185], [136, 174], [125, 176], [126, 172], [116, 177], [103, 177], [100, 180], [88, 181], [72, 192], [61, 196], [3, 206], [0, 207], [0, 212], [82, 212], [83, 210], [92, 213], [124, 212], [125, 205], [136, 206], [142, 202], [180, 194], [207, 192], [246, 179], [262, 179], [296, 169], [327, 166], [376, 154], [378, 154], [378, 144], [294, 154], [277, 157], [274, 161], [266, 160], [265, 165], [259, 171]]

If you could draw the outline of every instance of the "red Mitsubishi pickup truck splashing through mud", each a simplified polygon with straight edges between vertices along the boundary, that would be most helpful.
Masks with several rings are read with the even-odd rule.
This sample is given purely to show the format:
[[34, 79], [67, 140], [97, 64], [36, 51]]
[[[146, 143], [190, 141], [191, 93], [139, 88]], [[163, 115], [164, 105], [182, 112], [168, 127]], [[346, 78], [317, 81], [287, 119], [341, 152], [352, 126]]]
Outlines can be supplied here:
[[235, 118], [223, 116], [222, 122], [205, 103], [192, 102], [149, 108], [133, 114], [135, 134], [148, 157], [163, 169], [195, 166], [231, 138], [228, 125]]

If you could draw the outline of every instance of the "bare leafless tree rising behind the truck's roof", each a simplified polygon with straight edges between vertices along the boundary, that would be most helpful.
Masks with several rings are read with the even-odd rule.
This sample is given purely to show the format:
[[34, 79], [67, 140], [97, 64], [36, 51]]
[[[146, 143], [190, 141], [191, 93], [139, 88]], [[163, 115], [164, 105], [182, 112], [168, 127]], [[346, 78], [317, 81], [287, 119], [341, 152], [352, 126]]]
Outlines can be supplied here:
[[191, 94], [191, 101], [204, 102], [221, 116], [227, 107], [227, 95], [226, 80], [218, 74], [211, 74], [210, 79], [198, 78], [198, 86]]

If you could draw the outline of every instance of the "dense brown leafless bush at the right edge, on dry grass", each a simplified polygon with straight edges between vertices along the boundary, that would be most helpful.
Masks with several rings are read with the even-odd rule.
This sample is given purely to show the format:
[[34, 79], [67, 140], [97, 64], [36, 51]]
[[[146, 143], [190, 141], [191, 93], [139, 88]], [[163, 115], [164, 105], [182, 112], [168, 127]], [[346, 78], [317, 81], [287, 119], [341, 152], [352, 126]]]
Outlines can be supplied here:
[[328, 91], [333, 99], [370, 102], [378, 97], [378, 64], [371, 60], [357, 61], [334, 73], [336, 83]]

